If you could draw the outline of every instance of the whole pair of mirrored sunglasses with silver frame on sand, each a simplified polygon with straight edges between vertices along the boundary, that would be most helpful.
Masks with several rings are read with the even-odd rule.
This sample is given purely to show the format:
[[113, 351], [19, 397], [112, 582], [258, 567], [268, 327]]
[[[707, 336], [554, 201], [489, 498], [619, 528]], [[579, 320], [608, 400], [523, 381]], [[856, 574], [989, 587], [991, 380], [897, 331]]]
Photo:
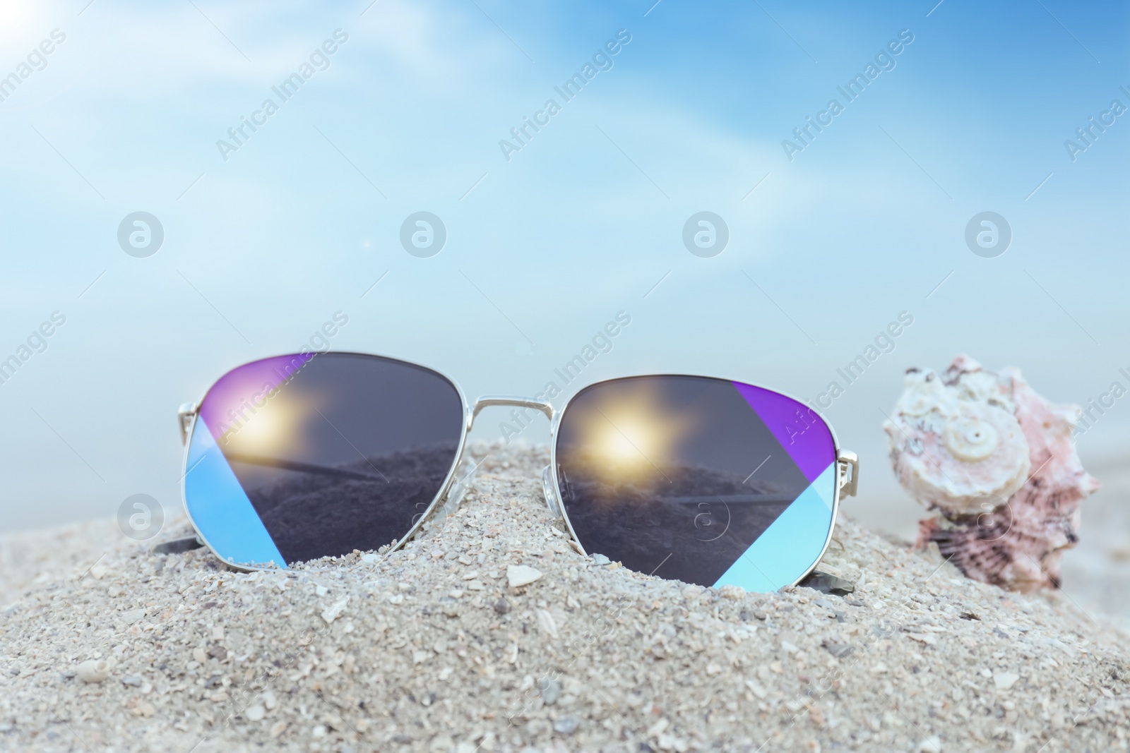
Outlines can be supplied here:
[[771, 592], [810, 573], [859, 459], [814, 410], [704, 376], [598, 382], [559, 411], [511, 396], [469, 403], [408, 361], [303, 352], [228, 371], [179, 418], [194, 539], [237, 569], [392, 551], [437, 507], [451, 513], [475, 418], [541, 412], [549, 509], [586, 555], [701, 586]]

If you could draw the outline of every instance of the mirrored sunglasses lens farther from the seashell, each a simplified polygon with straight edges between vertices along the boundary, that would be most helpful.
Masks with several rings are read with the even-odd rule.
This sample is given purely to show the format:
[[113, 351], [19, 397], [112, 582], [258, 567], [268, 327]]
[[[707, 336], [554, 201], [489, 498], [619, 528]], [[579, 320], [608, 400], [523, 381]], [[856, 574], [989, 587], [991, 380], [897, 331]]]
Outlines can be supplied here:
[[237, 564], [377, 549], [427, 510], [462, 432], [459, 392], [429, 369], [355, 353], [254, 361], [200, 405], [185, 504]]

